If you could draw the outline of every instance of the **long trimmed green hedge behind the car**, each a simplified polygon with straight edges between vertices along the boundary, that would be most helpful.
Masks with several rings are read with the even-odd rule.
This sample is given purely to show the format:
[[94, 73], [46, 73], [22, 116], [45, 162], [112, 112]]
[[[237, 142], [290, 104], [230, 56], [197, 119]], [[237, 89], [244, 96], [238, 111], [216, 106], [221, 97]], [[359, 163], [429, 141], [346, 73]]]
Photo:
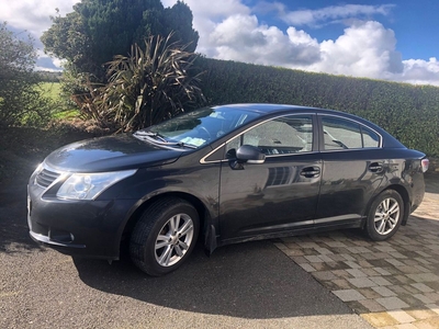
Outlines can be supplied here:
[[209, 104], [282, 103], [362, 116], [408, 148], [439, 157], [439, 88], [200, 57]]

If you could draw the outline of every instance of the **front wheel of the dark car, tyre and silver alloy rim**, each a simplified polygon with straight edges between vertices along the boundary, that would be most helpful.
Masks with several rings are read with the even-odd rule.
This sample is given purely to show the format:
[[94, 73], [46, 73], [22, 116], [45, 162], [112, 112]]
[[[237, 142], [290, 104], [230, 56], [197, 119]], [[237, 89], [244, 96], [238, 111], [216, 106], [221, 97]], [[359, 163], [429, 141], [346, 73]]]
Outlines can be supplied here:
[[149, 275], [170, 273], [188, 259], [199, 230], [199, 214], [189, 202], [177, 197], [158, 200], [134, 227], [130, 241], [131, 258]]

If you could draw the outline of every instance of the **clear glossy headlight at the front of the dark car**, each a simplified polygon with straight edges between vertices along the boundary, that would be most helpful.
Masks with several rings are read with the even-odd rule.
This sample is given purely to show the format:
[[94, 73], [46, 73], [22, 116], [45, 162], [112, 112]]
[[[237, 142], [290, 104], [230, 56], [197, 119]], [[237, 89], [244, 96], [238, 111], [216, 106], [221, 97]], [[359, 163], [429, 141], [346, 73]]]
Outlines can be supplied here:
[[94, 200], [108, 188], [135, 172], [136, 170], [74, 173], [63, 183], [56, 196], [71, 200]]

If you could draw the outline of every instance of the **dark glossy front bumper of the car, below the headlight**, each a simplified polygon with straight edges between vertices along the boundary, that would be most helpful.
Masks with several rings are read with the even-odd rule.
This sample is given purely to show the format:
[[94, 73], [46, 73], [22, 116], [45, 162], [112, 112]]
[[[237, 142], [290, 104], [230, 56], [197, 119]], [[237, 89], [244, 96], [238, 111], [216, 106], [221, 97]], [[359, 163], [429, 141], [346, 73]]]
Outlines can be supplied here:
[[135, 200], [68, 201], [44, 193], [36, 184], [27, 186], [33, 240], [71, 256], [119, 259], [122, 232]]

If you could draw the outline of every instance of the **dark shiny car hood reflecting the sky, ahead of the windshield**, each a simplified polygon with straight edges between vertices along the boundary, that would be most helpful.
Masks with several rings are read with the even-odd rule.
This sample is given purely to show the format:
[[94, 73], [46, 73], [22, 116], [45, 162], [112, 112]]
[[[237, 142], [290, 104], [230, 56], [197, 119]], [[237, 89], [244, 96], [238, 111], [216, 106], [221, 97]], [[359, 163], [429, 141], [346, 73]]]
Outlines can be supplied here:
[[124, 134], [66, 145], [53, 151], [45, 163], [55, 170], [102, 172], [171, 163], [181, 154], [182, 150], [154, 145]]

